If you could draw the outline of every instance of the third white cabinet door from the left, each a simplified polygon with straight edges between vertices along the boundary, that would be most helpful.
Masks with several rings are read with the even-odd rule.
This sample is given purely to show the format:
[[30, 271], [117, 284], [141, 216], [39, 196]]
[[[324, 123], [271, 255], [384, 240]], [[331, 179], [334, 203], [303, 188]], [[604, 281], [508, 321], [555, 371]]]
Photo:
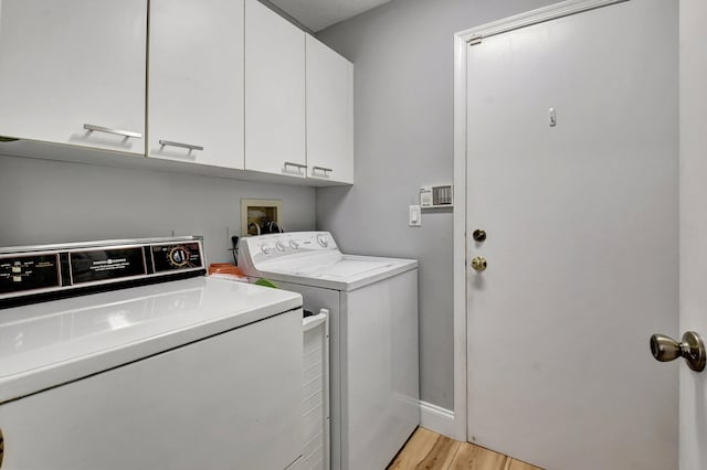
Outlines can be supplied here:
[[305, 33], [245, 3], [245, 169], [304, 178]]

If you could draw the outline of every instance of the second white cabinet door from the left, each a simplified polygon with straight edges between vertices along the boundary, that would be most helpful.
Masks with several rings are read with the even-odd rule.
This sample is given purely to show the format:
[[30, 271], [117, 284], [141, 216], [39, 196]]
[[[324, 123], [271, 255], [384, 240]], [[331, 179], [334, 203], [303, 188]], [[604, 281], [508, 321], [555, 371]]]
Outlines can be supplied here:
[[148, 156], [243, 169], [243, 0], [151, 0]]

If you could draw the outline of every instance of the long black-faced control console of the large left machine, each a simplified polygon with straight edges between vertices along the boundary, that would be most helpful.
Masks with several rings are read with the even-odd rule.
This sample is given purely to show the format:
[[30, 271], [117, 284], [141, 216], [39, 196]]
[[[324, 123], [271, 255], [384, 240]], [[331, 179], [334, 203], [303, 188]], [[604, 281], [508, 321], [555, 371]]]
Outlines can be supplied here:
[[0, 248], [0, 308], [205, 274], [200, 237]]

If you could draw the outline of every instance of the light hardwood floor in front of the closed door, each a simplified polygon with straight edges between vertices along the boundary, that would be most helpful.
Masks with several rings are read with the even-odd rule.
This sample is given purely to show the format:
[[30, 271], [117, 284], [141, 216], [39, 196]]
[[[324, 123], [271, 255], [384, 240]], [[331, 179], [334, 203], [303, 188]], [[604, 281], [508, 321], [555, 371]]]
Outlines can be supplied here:
[[520, 460], [418, 428], [388, 470], [542, 470]]

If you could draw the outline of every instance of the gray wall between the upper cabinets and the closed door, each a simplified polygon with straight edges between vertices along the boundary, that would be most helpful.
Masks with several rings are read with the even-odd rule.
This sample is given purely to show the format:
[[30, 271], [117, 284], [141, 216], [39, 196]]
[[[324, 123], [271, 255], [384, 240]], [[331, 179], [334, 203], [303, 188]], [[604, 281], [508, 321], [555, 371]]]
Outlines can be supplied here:
[[317, 190], [345, 252], [420, 260], [421, 397], [454, 407], [452, 212], [408, 227], [423, 184], [453, 180], [453, 34], [548, 0], [393, 0], [317, 36], [355, 64], [356, 184]]

